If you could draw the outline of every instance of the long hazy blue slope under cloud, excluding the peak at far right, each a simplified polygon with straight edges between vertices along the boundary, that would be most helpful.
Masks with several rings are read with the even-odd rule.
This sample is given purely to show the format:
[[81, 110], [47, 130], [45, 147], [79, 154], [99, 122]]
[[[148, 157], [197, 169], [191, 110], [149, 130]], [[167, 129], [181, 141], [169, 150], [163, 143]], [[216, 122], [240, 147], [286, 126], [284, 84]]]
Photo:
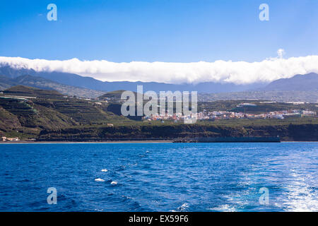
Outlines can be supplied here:
[[81, 88], [87, 88], [91, 90], [100, 90], [111, 92], [114, 90], [131, 90], [136, 91], [137, 85], [143, 85], [143, 91], [153, 90], [157, 93], [160, 91], [198, 91], [198, 93], [225, 93], [225, 92], [240, 92], [245, 90], [255, 90], [257, 88], [263, 88], [265, 83], [254, 83], [249, 85], [236, 85], [234, 83], [198, 83], [194, 84], [168, 84], [168, 83], [156, 83], [156, 82], [128, 82], [128, 81], [115, 81], [115, 82], [103, 82], [95, 78], [79, 76], [74, 73], [63, 73], [58, 71], [52, 72], [37, 72], [33, 69], [13, 69], [10, 66], [0, 65], [0, 74], [8, 76], [10, 78], [16, 78], [25, 74], [31, 76], [37, 76], [41, 78], [47, 78], [51, 81], [72, 85]]

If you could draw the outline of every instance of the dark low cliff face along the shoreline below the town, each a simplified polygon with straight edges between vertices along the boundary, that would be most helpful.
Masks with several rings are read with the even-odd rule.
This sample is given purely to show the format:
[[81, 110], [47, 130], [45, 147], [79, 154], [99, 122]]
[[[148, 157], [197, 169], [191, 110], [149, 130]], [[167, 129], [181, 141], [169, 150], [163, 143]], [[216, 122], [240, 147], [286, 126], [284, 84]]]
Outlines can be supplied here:
[[43, 130], [39, 141], [111, 141], [197, 137], [280, 136], [282, 141], [318, 141], [318, 124], [281, 126], [116, 126]]

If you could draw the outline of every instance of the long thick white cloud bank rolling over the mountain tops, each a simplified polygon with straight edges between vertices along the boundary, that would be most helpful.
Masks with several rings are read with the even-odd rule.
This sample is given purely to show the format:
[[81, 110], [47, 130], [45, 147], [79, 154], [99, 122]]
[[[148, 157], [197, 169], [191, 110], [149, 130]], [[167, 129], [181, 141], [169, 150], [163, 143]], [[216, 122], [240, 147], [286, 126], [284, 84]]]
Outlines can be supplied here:
[[156, 81], [163, 83], [224, 82], [248, 84], [290, 78], [295, 74], [318, 73], [318, 56], [272, 58], [260, 62], [214, 61], [167, 63], [132, 61], [114, 63], [105, 60], [49, 61], [20, 57], [0, 57], [0, 64], [35, 71], [61, 71], [92, 76], [101, 81]]

